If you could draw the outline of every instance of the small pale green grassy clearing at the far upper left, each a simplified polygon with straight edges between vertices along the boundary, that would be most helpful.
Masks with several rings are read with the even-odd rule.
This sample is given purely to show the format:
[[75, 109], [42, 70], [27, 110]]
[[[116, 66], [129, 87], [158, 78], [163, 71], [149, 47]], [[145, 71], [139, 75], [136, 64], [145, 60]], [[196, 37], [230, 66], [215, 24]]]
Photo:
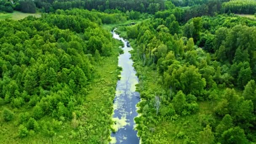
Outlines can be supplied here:
[[35, 17], [41, 17], [41, 13], [22, 13], [20, 11], [13, 11], [13, 13], [0, 13], [0, 20], [5, 19], [13, 19], [13, 20], [20, 20], [24, 19], [27, 16], [35, 16]]

